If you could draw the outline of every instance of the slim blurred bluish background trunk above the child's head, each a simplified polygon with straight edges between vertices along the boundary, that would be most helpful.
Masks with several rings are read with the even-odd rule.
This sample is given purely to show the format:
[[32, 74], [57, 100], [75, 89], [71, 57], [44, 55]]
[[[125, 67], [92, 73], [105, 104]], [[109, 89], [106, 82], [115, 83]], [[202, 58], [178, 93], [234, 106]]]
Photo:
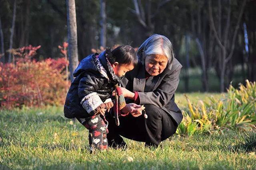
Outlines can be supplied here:
[[106, 47], [106, 0], [100, 0], [100, 46]]

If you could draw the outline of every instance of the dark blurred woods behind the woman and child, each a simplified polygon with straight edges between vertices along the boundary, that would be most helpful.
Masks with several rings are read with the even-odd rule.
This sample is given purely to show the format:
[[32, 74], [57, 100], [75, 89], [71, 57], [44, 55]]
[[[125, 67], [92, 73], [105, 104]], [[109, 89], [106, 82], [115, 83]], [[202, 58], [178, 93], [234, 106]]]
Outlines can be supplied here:
[[[12, 62], [8, 49], [29, 44], [41, 45], [36, 60], [63, 57], [58, 45], [68, 40], [67, 2], [0, 0], [1, 61]], [[225, 91], [230, 81], [237, 87], [256, 79], [254, 0], [76, 0], [75, 5], [79, 61], [100, 46], [138, 47], [157, 33], [170, 38], [184, 66], [178, 91]]]

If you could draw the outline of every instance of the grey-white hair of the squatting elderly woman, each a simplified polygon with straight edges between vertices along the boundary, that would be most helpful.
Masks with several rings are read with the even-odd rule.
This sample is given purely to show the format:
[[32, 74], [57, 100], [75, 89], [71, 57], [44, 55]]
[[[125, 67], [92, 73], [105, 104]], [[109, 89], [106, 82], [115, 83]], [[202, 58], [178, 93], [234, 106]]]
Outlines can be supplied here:
[[152, 54], [165, 55], [168, 59], [168, 63], [172, 64], [174, 58], [172, 43], [168, 38], [159, 34], [150, 36], [138, 48], [138, 61], [144, 65], [146, 56]]

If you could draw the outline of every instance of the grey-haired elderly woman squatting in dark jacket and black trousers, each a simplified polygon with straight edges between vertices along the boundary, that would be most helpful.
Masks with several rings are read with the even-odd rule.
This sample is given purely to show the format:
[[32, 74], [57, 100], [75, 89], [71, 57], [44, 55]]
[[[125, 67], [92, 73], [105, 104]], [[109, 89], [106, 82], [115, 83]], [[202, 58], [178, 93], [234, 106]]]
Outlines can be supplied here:
[[[172, 43], [161, 35], [150, 36], [137, 51], [138, 65], [122, 79], [122, 93], [126, 107], [121, 110], [129, 114], [120, 116], [120, 125], [108, 117], [109, 145], [125, 145], [122, 136], [148, 146], [158, 146], [172, 136], [182, 121], [182, 113], [174, 102], [174, 92], [179, 83], [182, 65], [174, 58]], [[136, 104], [135, 104], [136, 103]], [[144, 105], [148, 118], [140, 116], [138, 108]]]

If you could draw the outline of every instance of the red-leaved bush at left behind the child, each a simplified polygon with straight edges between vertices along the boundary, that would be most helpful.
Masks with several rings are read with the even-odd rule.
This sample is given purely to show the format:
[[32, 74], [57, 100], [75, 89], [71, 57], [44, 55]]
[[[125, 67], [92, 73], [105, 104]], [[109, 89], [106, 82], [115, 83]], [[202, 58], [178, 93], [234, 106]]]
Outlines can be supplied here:
[[38, 47], [14, 49], [18, 56], [13, 63], [0, 63], [0, 107], [13, 108], [22, 105], [42, 106], [64, 104], [70, 85], [66, 81], [65, 58], [31, 59]]

